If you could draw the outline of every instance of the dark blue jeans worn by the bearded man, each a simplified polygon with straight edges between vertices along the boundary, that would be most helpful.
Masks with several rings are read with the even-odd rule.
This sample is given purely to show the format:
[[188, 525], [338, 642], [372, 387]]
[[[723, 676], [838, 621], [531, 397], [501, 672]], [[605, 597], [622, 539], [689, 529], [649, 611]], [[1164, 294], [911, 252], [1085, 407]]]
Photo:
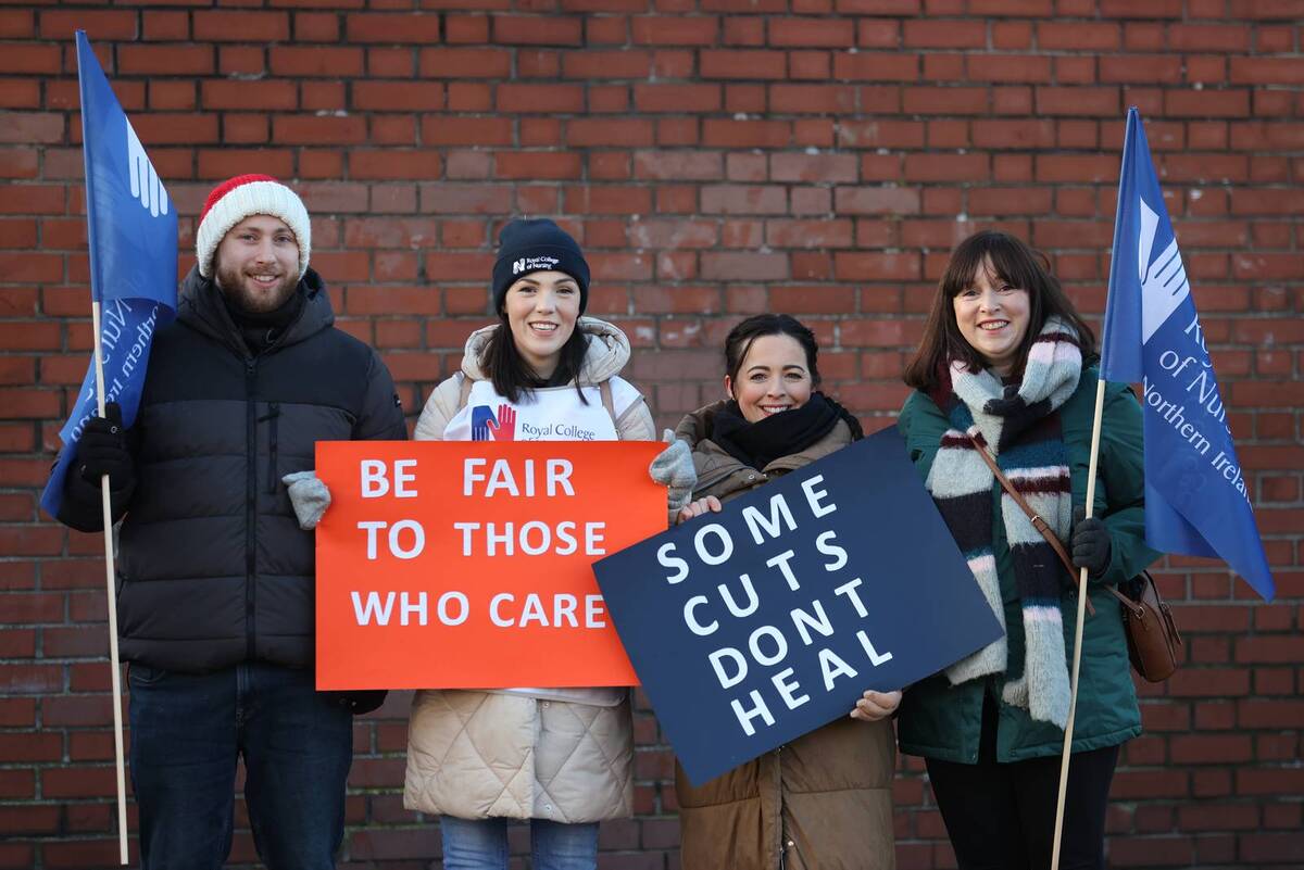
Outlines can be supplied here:
[[132, 788], [142, 870], [218, 870], [231, 852], [236, 763], [269, 870], [330, 870], [344, 836], [353, 716], [312, 671], [215, 673], [132, 664]]

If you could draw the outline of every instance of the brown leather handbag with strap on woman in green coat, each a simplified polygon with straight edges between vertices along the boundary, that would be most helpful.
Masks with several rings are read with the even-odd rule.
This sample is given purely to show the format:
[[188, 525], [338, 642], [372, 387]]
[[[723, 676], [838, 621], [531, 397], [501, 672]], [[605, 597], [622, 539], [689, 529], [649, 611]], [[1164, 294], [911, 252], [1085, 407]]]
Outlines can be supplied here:
[[[996, 465], [996, 460], [987, 452], [987, 448], [977, 442], [973, 442], [973, 445], [978, 451], [978, 456], [983, 457], [983, 461], [987, 462], [991, 473], [1000, 481], [1000, 486], [1009, 494], [1009, 498], [1031, 520], [1033, 527], [1055, 550], [1060, 561], [1064, 563], [1064, 568], [1068, 569], [1069, 577], [1076, 582], [1078, 569], [1073, 567], [1073, 560], [1068, 557], [1068, 551], [1064, 550], [1064, 544], [1051, 531], [1050, 525], [1042, 517], [1037, 516], [1037, 512], [1028, 504], [1022, 494], [1001, 473]], [[1104, 589], [1118, 598], [1123, 606], [1123, 628], [1128, 637], [1128, 658], [1132, 660], [1132, 667], [1150, 682], [1167, 680], [1178, 669], [1178, 664], [1181, 660], [1181, 634], [1178, 632], [1178, 624], [1172, 621], [1172, 611], [1159, 598], [1159, 589], [1154, 585], [1154, 577], [1150, 576], [1150, 572], [1142, 570], [1138, 576], [1121, 585], [1127, 587], [1125, 591], [1119, 591], [1114, 586], [1106, 586]], [[1086, 606], [1094, 615], [1095, 608], [1091, 607], [1090, 599], [1088, 599]]]

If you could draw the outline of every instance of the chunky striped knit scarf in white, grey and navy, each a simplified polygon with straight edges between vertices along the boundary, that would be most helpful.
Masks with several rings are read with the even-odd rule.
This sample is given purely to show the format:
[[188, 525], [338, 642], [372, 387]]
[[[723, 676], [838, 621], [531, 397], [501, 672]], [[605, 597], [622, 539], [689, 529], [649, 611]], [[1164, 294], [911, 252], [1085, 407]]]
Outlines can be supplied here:
[[[1024, 378], [1001, 384], [991, 371], [947, 366], [951, 383], [934, 401], [951, 421], [926, 486], [969, 560], [978, 587], [1005, 628], [1000, 581], [992, 555], [995, 475], [974, 444], [988, 448], [1029, 505], [1063, 540], [1072, 522], [1068, 455], [1058, 409], [1077, 388], [1082, 353], [1073, 328], [1058, 318], [1046, 322], [1028, 352]], [[949, 388], [948, 388], [949, 387]], [[1060, 567], [1017, 503], [1001, 491], [1000, 520], [1015, 563], [1024, 615], [1021, 676], [1007, 679], [1001, 697], [1038, 722], [1060, 728], [1068, 722], [1069, 676], [1060, 617]], [[1005, 638], [947, 668], [952, 685], [1007, 672]], [[1011, 668], [1016, 669], [1016, 668]]]

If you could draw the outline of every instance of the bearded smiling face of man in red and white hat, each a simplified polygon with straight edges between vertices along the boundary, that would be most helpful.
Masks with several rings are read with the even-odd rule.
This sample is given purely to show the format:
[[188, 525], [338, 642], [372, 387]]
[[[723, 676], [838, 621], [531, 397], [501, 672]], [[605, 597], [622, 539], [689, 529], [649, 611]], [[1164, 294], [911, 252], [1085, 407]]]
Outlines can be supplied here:
[[279, 309], [299, 287], [299, 242], [271, 215], [253, 215], [232, 227], [214, 260], [218, 287], [250, 314]]

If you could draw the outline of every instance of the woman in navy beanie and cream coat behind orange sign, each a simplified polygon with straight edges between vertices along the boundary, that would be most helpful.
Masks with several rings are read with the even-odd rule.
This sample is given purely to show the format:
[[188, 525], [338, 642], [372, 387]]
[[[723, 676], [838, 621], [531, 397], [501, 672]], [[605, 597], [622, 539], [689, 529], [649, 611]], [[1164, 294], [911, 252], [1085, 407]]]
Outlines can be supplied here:
[[[582, 316], [589, 271], [575, 240], [537, 219], [512, 220], [499, 242], [498, 323], [467, 340], [416, 439], [655, 439], [643, 396], [617, 375], [629, 339]], [[664, 455], [669, 465], [659, 460], [660, 478], [653, 464], [655, 479], [672, 482], [675, 455], [691, 475], [681, 444]], [[592, 870], [597, 823], [632, 811], [632, 759], [626, 686], [424, 690], [412, 702], [403, 802], [441, 817], [446, 870], [506, 870], [509, 819], [531, 822], [535, 870]]]

